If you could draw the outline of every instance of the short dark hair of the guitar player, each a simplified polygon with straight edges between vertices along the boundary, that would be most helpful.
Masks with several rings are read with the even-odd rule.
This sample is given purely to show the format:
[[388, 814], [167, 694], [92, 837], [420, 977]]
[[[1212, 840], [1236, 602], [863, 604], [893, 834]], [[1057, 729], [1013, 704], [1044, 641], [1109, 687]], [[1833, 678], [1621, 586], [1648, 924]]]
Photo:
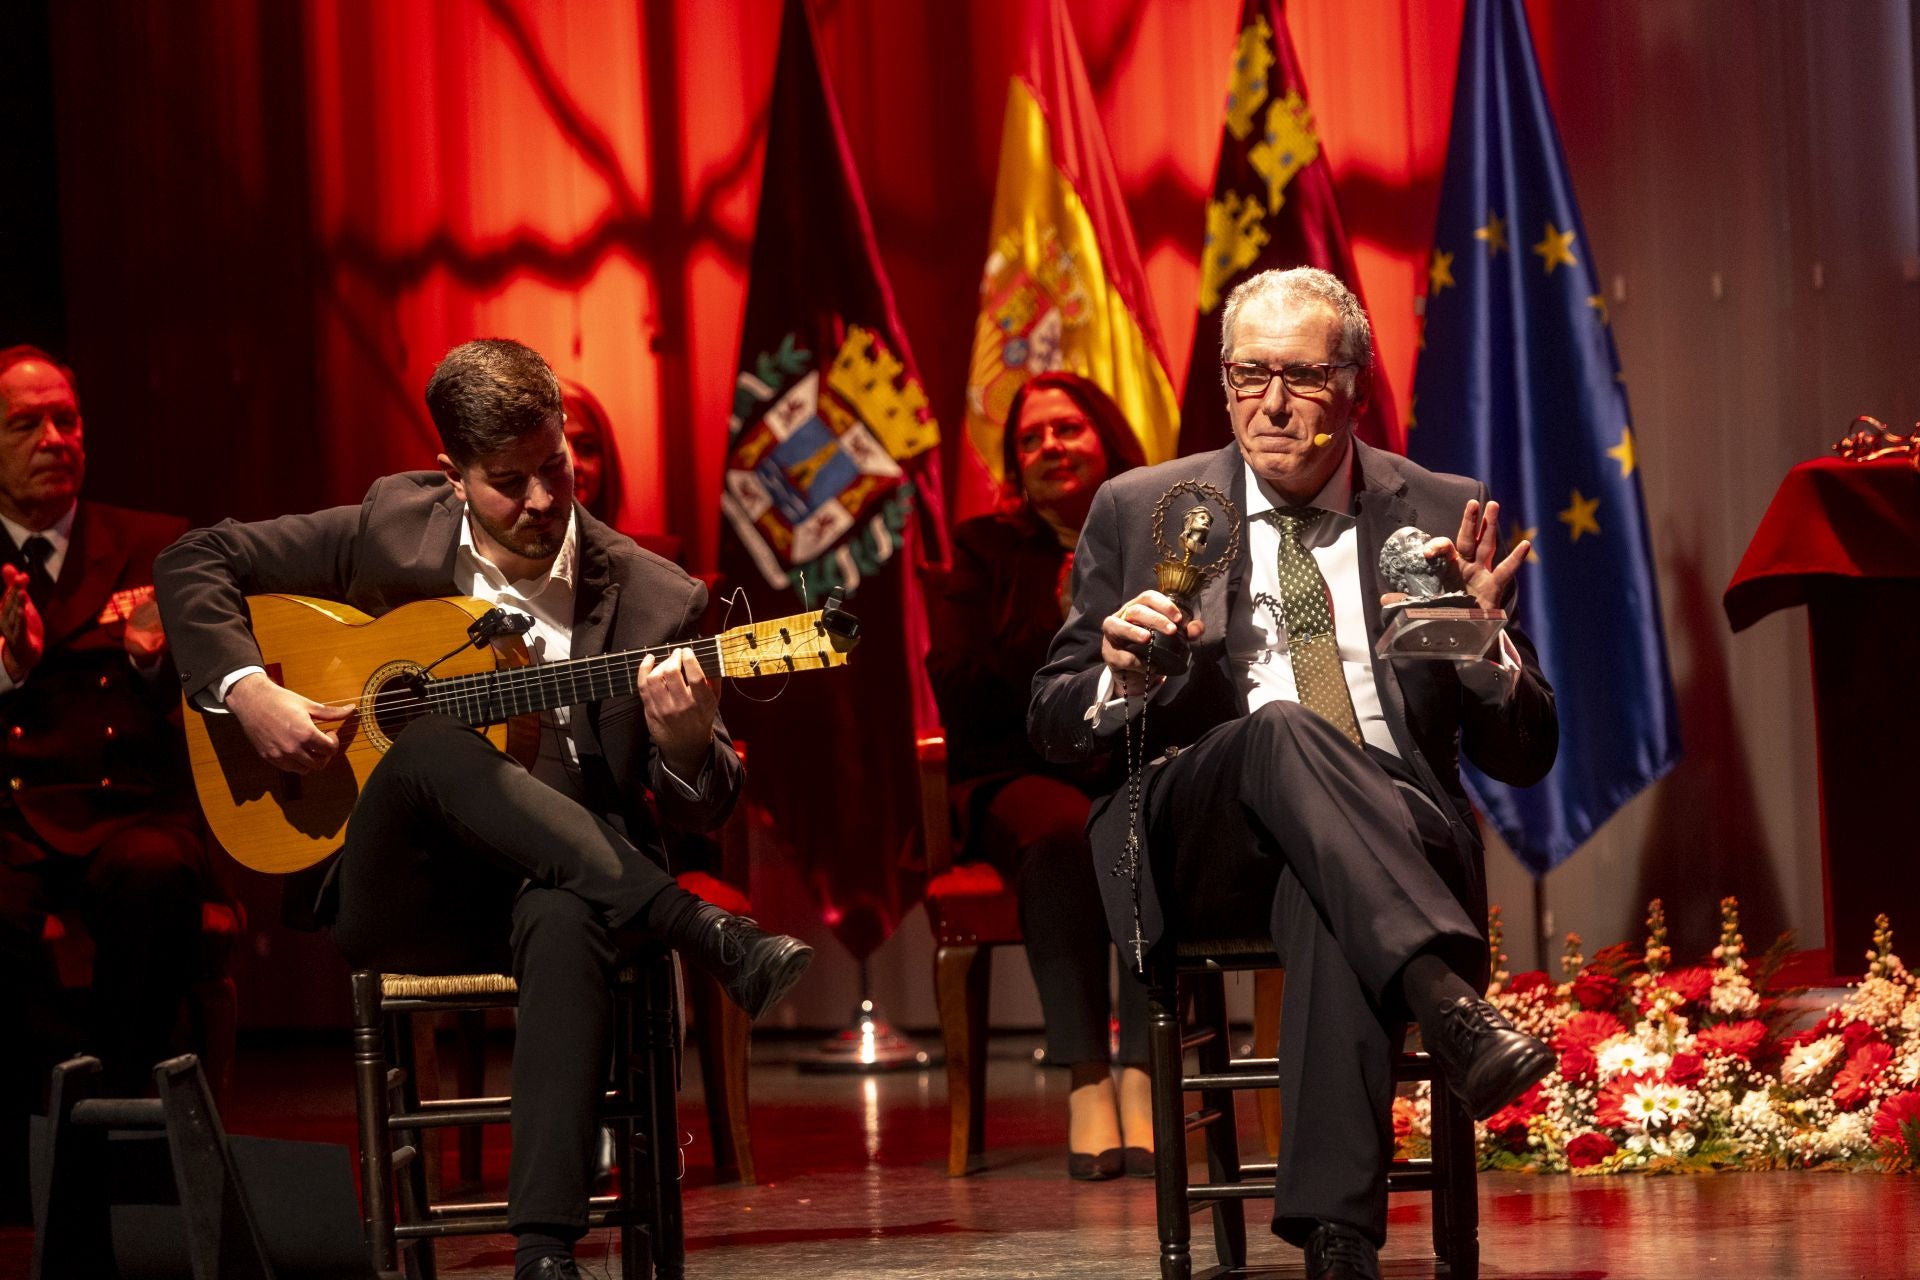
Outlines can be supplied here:
[[524, 342], [476, 338], [426, 380], [426, 413], [457, 466], [497, 453], [561, 416], [561, 380]]

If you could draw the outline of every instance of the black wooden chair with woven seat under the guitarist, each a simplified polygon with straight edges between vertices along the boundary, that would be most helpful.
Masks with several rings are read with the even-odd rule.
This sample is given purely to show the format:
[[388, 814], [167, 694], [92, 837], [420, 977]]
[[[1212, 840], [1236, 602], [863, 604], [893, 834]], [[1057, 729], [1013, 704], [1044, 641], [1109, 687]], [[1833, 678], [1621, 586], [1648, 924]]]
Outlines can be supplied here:
[[[465, 1125], [505, 1125], [509, 1098], [420, 1100], [413, 1019], [501, 1009], [518, 990], [501, 973], [417, 977], [353, 973], [353, 1075], [359, 1107], [361, 1211], [374, 1268], [432, 1280], [432, 1242], [507, 1230], [507, 1205], [436, 1203], [428, 1190], [424, 1134]], [[430, 1032], [428, 1032], [430, 1034]], [[680, 1213], [680, 1146], [674, 1117], [680, 1029], [674, 965], [657, 952], [614, 984], [614, 1086], [601, 1107], [620, 1148], [612, 1196], [595, 1196], [589, 1226], [620, 1230], [624, 1280], [680, 1280], [685, 1242]], [[397, 1203], [396, 1203], [397, 1201]]]

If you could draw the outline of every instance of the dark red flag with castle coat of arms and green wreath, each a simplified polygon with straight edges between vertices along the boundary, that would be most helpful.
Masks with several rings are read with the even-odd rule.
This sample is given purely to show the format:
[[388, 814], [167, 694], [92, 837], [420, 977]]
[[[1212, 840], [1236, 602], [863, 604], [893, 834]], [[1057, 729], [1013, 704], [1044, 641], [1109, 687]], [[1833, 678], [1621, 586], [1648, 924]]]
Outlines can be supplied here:
[[[845, 668], [756, 679], [724, 702], [747, 796], [822, 919], [866, 956], [914, 906], [916, 733], [939, 722], [918, 570], [943, 560], [939, 426], [881, 271], [812, 15], [787, 0], [728, 420], [720, 566], [758, 616], [841, 587]], [[728, 624], [745, 622], [735, 608]], [[945, 839], [945, 833], [941, 833]]]

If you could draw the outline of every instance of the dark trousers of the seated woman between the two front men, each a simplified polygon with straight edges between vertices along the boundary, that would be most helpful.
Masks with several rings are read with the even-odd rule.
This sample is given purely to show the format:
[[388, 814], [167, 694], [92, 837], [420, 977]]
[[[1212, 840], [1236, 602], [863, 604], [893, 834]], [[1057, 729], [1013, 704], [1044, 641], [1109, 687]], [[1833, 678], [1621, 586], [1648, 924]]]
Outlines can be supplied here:
[[[1046, 1057], [1104, 1063], [1114, 938], [1100, 908], [1087, 793], [1056, 777], [1027, 773], [1000, 787], [981, 819], [981, 844], [1012, 871], [1027, 965], [1046, 1019]], [[1119, 967], [1119, 1061], [1146, 1065], [1146, 984]]]

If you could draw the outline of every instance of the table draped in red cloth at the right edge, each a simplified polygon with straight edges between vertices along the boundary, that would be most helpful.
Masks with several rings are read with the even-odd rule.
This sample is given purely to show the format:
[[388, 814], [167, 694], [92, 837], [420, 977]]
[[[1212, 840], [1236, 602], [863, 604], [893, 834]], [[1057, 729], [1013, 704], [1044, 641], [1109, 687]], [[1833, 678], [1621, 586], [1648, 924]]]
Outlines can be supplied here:
[[1907, 950], [1920, 940], [1920, 470], [1908, 459], [1795, 466], [1724, 604], [1736, 631], [1807, 604], [1826, 940], [1834, 973], [1857, 977], [1876, 913]]

